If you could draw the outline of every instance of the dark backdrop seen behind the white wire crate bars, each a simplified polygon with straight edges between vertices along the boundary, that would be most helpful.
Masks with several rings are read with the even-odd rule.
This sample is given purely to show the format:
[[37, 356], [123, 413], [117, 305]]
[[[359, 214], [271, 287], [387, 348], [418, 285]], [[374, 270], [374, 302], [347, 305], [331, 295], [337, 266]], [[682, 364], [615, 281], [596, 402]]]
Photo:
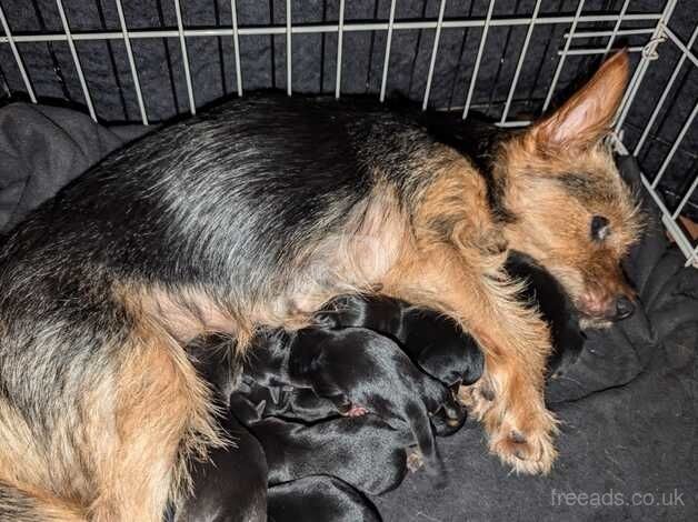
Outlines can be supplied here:
[[[180, 0], [185, 27], [231, 27], [229, 0]], [[53, 0], [1, 0], [9, 24], [16, 34], [62, 33]], [[170, 0], [123, 0], [130, 30], [177, 27], [174, 3]], [[446, 19], [485, 18], [488, 1], [451, 0]], [[584, 13], [618, 13], [624, 0], [588, 0]], [[113, 0], [64, 0], [66, 14], [73, 32], [119, 31]], [[634, 0], [627, 13], [658, 13], [664, 0]], [[521, 18], [532, 13], [535, 0], [499, 0], [495, 18]], [[286, 26], [285, 0], [238, 0], [241, 27]], [[346, 2], [345, 21], [387, 21], [390, 0], [350, 0]], [[438, 17], [439, 0], [398, 0], [396, 20], [422, 20]], [[540, 17], [574, 14], [577, 0], [544, 0]], [[293, 24], [336, 22], [339, 0], [293, 0]], [[679, 0], [670, 22], [671, 29], [687, 42], [698, 22], [698, 2]], [[612, 29], [615, 22], [580, 23], [577, 31]], [[626, 21], [621, 29], [649, 28], [654, 21]], [[528, 24], [490, 28], [472, 103], [477, 111], [499, 118], [513, 78]], [[510, 118], [539, 113], [550, 79], [558, 62], [569, 24], [540, 24], [532, 33], [527, 58], [515, 93]], [[431, 87], [430, 106], [462, 107], [472, 73], [481, 29], [443, 29], [439, 42]], [[421, 101], [427, 82], [435, 30], [396, 30], [393, 32], [388, 92], [400, 92]], [[649, 36], [620, 38], [619, 43], [642, 46]], [[168, 119], [188, 111], [182, 57], [177, 38], [131, 40], [139, 78], [151, 121]], [[575, 39], [572, 48], [604, 48], [606, 38]], [[232, 38], [201, 37], [187, 40], [197, 106], [236, 90]], [[76, 42], [92, 96], [102, 122], [139, 121], [126, 48], [121, 40]], [[380, 90], [386, 48], [386, 31], [345, 32], [342, 93], [373, 93]], [[82, 91], [67, 42], [20, 43], [37, 96], [42, 102], [53, 100], [81, 106]], [[240, 37], [243, 89], [286, 89], [286, 36]], [[292, 37], [292, 89], [296, 92], [333, 93], [337, 33], [295, 34]], [[652, 62], [628, 116], [624, 141], [636, 143], [664, 86], [680, 54], [676, 46], [659, 47], [659, 60]], [[632, 54], [634, 66], [640, 54]], [[578, 84], [600, 60], [599, 54], [568, 57], [556, 90], [557, 101], [571, 86]], [[680, 127], [698, 100], [696, 67], [687, 60], [642, 148], [639, 161], [652, 177], [675, 141]], [[21, 99], [23, 83], [8, 44], [0, 44], [0, 103]], [[695, 178], [698, 167], [698, 132], [692, 126], [665, 175], [661, 189], [669, 207], [676, 204]], [[698, 219], [698, 193], [687, 209]]]

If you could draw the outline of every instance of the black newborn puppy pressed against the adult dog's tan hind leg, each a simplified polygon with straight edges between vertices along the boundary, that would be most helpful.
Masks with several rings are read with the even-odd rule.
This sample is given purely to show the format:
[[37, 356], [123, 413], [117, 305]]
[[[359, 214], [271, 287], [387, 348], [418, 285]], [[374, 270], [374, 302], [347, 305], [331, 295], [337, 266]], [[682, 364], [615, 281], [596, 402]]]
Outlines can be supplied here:
[[235, 446], [210, 451], [195, 462], [192, 492], [174, 511], [174, 522], [266, 522], [267, 459], [261, 444], [232, 415], [221, 428]]

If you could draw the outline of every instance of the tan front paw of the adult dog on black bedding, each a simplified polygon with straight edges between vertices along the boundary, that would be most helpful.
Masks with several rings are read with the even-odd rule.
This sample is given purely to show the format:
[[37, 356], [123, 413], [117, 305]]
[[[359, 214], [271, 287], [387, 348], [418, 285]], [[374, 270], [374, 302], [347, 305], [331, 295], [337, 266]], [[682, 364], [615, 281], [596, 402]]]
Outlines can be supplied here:
[[487, 422], [489, 431], [490, 451], [512, 468], [517, 473], [547, 474], [557, 458], [554, 436], [557, 433], [557, 422], [546, 410], [540, 413], [527, 412], [527, 416], [517, 418], [511, 411], [500, 416], [500, 422]]

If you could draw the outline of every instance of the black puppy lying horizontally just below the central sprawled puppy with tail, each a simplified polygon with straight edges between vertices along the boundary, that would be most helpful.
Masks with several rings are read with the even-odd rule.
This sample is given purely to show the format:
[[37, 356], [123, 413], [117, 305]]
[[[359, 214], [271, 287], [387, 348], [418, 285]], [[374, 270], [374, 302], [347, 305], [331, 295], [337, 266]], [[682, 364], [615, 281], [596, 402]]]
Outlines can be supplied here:
[[271, 416], [259, 419], [238, 393], [232, 394], [231, 412], [261, 443], [269, 485], [322, 474], [366, 493], [381, 494], [397, 488], [407, 472], [406, 448], [411, 436], [370, 413], [311, 425]]

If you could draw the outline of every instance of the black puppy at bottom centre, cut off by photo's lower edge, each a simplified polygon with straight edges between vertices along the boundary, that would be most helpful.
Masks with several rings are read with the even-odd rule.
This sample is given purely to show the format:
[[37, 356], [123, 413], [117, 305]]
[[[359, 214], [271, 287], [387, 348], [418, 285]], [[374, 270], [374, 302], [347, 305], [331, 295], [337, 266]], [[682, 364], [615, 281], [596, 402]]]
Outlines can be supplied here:
[[306, 476], [268, 493], [271, 522], [380, 522], [371, 502], [332, 476]]

